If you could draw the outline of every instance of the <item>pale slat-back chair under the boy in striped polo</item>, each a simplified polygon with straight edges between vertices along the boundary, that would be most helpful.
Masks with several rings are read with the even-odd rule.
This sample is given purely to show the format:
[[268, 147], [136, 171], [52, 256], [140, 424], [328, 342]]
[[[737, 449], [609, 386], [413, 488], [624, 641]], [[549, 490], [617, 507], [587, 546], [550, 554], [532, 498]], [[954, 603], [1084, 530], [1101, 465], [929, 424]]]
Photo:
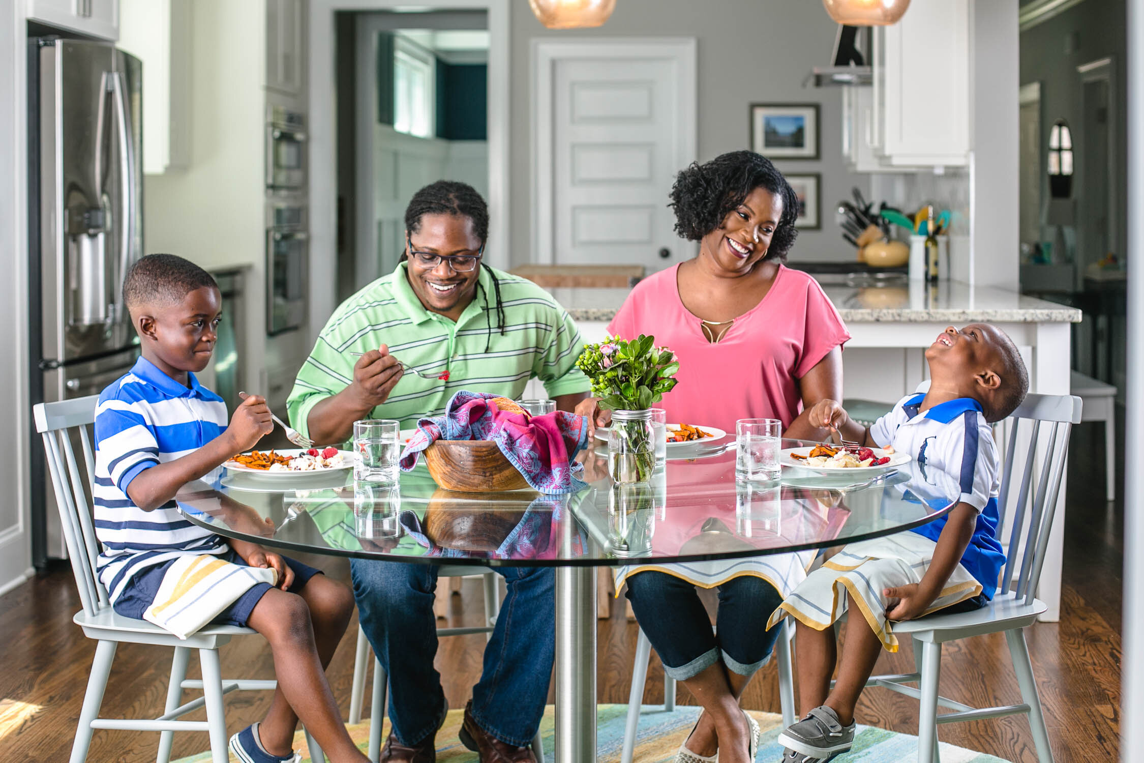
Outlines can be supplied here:
[[[95, 459], [92, 452], [92, 435], [88, 431], [95, 422], [95, 406], [98, 396], [40, 403], [32, 408], [35, 430], [43, 437], [47, 451], [48, 474], [59, 509], [67, 556], [71, 559], [76, 587], [84, 609], [73, 618], [84, 629], [84, 635], [94, 638], [95, 659], [84, 694], [76, 741], [72, 744], [71, 763], [87, 760], [92, 736], [96, 729], [128, 731], [158, 731], [159, 750], [156, 760], [167, 763], [176, 731], [206, 731], [210, 738], [212, 763], [227, 763], [227, 717], [223, 710], [223, 694], [235, 690], [273, 691], [275, 681], [223, 678], [219, 663], [219, 647], [233, 636], [256, 635], [249, 628], [236, 626], [207, 626], [185, 639], [146, 620], [135, 620], [119, 615], [111, 609], [108, 591], [96, 573], [100, 542], [95, 537], [95, 525], [88, 508], [87, 494], [95, 482]], [[85, 471], [76, 459], [72, 435], [78, 435], [82, 450]], [[111, 675], [111, 663], [120, 643], [172, 646], [175, 650], [170, 663], [170, 683], [167, 686], [167, 704], [157, 718], [101, 718], [100, 706]], [[202, 679], [188, 679], [186, 665], [191, 650], [198, 650], [202, 667]], [[184, 689], [198, 689], [202, 697], [183, 702]], [[178, 718], [199, 708], [206, 708], [206, 721], [180, 721]], [[307, 742], [315, 763], [325, 761], [321, 749], [307, 732]]]

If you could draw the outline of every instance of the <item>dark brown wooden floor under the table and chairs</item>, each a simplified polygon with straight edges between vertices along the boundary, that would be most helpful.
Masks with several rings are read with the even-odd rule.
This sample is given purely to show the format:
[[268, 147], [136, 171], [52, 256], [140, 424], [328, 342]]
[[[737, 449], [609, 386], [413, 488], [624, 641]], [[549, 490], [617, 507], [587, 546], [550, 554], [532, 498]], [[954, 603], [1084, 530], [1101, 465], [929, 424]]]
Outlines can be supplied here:
[[[1121, 427], [1121, 431], [1123, 431]], [[1057, 761], [1115, 760], [1120, 723], [1120, 603], [1122, 567], [1121, 501], [1104, 501], [1103, 434], [1099, 424], [1077, 428], [1072, 443], [1064, 558], [1064, 601], [1059, 623], [1028, 629], [1033, 669]], [[1121, 451], [1123, 453], [1123, 451]], [[1122, 456], [1120, 459], [1122, 461]], [[1122, 484], [1122, 483], [1121, 483]], [[348, 565], [329, 558], [305, 559], [327, 573], [348, 578]], [[466, 580], [462, 595], [451, 601], [452, 625], [476, 625], [482, 618], [478, 580]], [[71, 622], [79, 609], [69, 571], [38, 578], [0, 597], [0, 761], [62, 761], [67, 758], [84, 697], [94, 642]], [[343, 714], [349, 706], [355, 630], [347, 634], [329, 678]], [[599, 621], [598, 697], [601, 702], [626, 702], [631, 679], [636, 627], [613, 602], [613, 615]], [[480, 669], [483, 636], [442, 642], [437, 668], [444, 676], [451, 707], [463, 707]], [[120, 646], [103, 702], [105, 716], [156, 716], [161, 713], [170, 667], [170, 650]], [[222, 649], [224, 676], [272, 677], [265, 643], [244, 637]], [[908, 645], [884, 654], [879, 671], [913, 669]], [[198, 669], [192, 661], [192, 677]], [[645, 702], [662, 701], [662, 670], [653, 658]], [[947, 645], [942, 693], [971, 705], [1019, 701], [1002, 636]], [[368, 694], [367, 694], [368, 696]], [[265, 710], [268, 694], [232, 693], [227, 698], [228, 729], [235, 732]], [[680, 701], [690, 702], [685, 690]], [[40, 709], [18, 705], [39, 706]], [[778, 712], [773, 668], [764, 668], [748, 688], [745, 706]], [[23, 708], [23, 710], [22, 710]], [[198, 716], [189, 717], [202, 717]], [[916, 733], [916, 705], [884, 690], [863, 698], [858, 721]], [[1010, 761], [1035, 761], [1028, 724], [1022, 716], [939, 728], [943, 741], [970, 747]], [[89, 761], [154, 760], [157, 733], [97, 731]], [[207, 736], [175, 736], [174, 756], [201, 752]]]

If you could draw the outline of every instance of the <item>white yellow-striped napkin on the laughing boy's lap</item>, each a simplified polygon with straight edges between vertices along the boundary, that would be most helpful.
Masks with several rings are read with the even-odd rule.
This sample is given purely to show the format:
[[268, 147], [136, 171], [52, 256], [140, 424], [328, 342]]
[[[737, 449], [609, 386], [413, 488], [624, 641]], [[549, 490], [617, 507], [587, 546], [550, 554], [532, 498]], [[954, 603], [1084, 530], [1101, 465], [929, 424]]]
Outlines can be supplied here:
[[[807, 575], [774, 610], [766, 627], [791, 614], [816, 630], [825, 630], [853, 599], [887, 651], [897, 652], [898, 638], [885, 619], [889, 601], [882, 590], [921, 582], [936, 547], [929, 538], [912, 532], [850, 543]], [[959, 564], [924, 614], [980, 593], [982, 585]]]

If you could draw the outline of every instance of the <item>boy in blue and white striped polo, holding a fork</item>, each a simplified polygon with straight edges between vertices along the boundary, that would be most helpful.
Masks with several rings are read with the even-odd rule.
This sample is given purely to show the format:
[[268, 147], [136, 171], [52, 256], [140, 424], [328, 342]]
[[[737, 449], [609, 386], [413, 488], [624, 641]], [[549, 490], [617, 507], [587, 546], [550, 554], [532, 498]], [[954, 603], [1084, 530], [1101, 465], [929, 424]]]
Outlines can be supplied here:
[[326, 683], [325, 666], [353, 610], [349, 589], [318, 570], [184, 519], [175, 493], [247, 451], [273, 423], [251, 396], [227, 423], [227, 406], [194, 372], [210, 360], [221, 316], [219, 286], [198, 265], [169, 254], [141, 259], [124, 280], [124, 302], [142, 357], [100, 396], [95, 414], [95, 528], [100, 580], [112, 607], [142, 619], [167, 567], [188, 555], [272, 567], [214, 622], [246, 626], [270, 642], [278, 689], [270, 710], [231, 738], [245, 763], [294, 760], [299, 717], [333, 761], [360, 763]]

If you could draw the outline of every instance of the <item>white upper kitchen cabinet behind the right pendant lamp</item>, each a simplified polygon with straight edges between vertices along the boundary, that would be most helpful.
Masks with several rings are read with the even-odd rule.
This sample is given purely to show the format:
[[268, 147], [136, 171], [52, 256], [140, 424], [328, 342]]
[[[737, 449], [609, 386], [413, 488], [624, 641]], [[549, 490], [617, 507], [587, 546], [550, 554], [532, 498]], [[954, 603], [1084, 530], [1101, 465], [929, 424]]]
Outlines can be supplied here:
[[874, 30], [871, 126], [882, 164], [966, 166], [970, 150], [969, 0], [914, 0]]

